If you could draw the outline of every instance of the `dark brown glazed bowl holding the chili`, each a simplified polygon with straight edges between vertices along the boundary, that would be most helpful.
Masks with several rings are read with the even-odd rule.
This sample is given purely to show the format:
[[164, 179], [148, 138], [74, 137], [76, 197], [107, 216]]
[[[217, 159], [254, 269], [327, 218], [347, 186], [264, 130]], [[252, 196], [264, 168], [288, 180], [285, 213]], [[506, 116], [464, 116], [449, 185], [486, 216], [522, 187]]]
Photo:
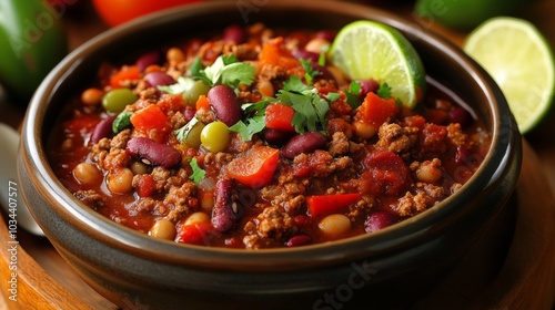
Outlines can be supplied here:
[[[154, 14], [65, 58], [32, 99], [18, 162], [23, 198], [61, 256], [88, 285], [123, 308], [347, 309], [411, 304], [437, 285], [482, 236], [515, 188], [521, 137], [493, 80], [460, 49], [414, 23], [337, 1], [206, 2]], [[244, 3], [243, 3], [244, 4]], [[127, 229], [77, 200], [57, 179], [44, 145], [61, 106], [94, 79], [101, 61], [199, 30], [263, 21], [340, 29], [360, 19], [401, 30], [427, 73], [470, 103], [493, 133], [475, 176], [455, 195], [380, 232], [295, 249], [231, 250], [176, 245]]]

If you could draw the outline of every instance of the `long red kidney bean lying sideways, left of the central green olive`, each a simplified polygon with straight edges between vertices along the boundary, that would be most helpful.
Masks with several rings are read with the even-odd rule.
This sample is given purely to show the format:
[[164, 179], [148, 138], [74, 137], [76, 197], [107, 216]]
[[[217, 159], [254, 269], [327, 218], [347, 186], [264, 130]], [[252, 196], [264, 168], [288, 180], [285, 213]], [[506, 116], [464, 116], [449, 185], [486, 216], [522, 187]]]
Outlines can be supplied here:
[[181, 163], [181, 153], [170, 145], [154, 142], [147, 137], [133, 137], [128, 142], [125, 153], [150, 165], [170, 168]]

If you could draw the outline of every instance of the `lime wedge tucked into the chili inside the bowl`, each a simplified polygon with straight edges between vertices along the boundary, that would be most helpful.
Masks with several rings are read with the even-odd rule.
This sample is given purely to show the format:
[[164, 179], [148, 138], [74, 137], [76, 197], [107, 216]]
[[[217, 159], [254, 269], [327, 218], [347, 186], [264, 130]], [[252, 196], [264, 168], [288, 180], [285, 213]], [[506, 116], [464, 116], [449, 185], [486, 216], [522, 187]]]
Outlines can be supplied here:
[[360, 20], [343, 27], [330, 60], [352, 80], [387, 83], [392, 96], [413, 107], [425, 91], [424, 65], [408, 40], [383, 23]]

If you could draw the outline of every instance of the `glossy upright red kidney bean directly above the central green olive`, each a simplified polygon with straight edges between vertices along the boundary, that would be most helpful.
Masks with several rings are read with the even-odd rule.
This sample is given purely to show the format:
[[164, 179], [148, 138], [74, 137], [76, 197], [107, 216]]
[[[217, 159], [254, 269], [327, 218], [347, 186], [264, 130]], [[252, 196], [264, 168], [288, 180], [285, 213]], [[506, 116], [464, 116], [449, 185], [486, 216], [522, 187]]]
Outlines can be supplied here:
[[243, 118], [243, 110], [235, 92], [228, 85], [215, 85], [206, 94], [215, 118], [228, 126], [233, 126]]

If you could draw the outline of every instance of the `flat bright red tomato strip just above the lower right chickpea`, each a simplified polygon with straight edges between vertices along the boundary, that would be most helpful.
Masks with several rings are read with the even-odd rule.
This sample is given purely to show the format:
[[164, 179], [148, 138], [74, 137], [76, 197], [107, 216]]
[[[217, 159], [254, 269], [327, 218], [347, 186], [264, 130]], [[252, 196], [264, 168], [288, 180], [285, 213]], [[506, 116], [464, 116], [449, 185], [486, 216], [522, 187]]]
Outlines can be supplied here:
[[309, 196], [306, 205], [311, 216], [321, 216], [342, 211], [361, 198], [361, 193]]

